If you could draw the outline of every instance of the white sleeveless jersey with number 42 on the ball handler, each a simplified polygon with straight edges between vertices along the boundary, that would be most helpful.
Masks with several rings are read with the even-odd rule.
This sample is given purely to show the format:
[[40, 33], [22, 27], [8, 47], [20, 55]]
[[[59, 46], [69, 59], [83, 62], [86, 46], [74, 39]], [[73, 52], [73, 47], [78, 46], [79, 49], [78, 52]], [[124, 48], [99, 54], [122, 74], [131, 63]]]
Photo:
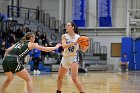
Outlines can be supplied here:
[[[66, 44], [76, 42], [80, 35], [75, 34], [74, 38], [71, 38], [68, 34], [64, 34], [65, 39], [66, 39]], [[63, 52], [63, 56], [76, 56], [77, 55], [77, 50], [79, 49], [79, 44], [75, 44], [71, 47], [65, 48]]]

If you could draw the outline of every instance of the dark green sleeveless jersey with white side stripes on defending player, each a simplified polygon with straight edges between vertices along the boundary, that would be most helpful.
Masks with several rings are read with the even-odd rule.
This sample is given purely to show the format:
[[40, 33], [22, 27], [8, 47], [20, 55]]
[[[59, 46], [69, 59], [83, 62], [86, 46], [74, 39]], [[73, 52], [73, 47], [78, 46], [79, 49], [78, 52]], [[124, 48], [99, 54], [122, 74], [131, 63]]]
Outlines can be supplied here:
[[9, 55], [17, 56], [19, 59], [23, 59], [26, 57], [29, 53], [28, 49], [28, 43], [29, 41], [26, 41], [25, 43], [21, 44], [20, 42], [16, 43], [14, 48], [8, 53]]

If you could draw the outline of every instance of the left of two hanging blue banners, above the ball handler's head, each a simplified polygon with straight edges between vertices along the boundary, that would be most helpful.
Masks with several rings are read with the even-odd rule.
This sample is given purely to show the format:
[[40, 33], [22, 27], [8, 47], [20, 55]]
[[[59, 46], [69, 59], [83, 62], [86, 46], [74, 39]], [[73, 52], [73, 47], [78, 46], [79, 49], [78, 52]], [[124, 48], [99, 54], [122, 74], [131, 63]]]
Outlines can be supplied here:
[[78, 27], [86, 26], [86, 0], [73, 0], [72, 20]]

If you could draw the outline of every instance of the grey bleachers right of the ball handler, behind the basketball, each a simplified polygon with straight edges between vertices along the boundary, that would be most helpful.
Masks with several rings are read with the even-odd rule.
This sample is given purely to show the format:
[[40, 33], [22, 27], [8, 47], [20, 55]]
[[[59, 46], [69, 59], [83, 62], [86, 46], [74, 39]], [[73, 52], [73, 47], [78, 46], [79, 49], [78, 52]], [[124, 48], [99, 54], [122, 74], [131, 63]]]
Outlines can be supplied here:
[[100, 42], [94, 42], [90, 39], [91, 46], [83, 56], [81, 68], [93, 70], [108, 70], [110, 65], [107, 64], [107, 48], [100, 46]]

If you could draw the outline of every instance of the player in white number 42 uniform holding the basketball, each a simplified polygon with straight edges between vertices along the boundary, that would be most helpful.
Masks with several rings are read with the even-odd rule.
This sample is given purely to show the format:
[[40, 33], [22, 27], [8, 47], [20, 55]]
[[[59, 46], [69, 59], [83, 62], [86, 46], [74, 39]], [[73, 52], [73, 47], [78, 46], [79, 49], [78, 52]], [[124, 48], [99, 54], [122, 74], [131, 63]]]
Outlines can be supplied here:
[[[78, 49], [79, 45], [77, 43], [78, 38], [80, 37], [78, 33], [78, 28], [73, 22], [69, 22], [66, 25], [66, 31], [68, 33], [62, 35], [62, 47], [64, 48], [63, 57], [60, 63], [59, 72], [58, 72], [58, 83], [57, 83], [57, 92], [61, 93], [63, 79], [68, 69], [70, 68], [71, 77], [76, 87], [80, 93], [84, 93], [83, 87], [78, 80]], [[82, 50], [86, 51], [86, 50]], [[65, 91], [66, 92], [66, 91]], [[64, 92], [64, 93], [65, 93]]]

